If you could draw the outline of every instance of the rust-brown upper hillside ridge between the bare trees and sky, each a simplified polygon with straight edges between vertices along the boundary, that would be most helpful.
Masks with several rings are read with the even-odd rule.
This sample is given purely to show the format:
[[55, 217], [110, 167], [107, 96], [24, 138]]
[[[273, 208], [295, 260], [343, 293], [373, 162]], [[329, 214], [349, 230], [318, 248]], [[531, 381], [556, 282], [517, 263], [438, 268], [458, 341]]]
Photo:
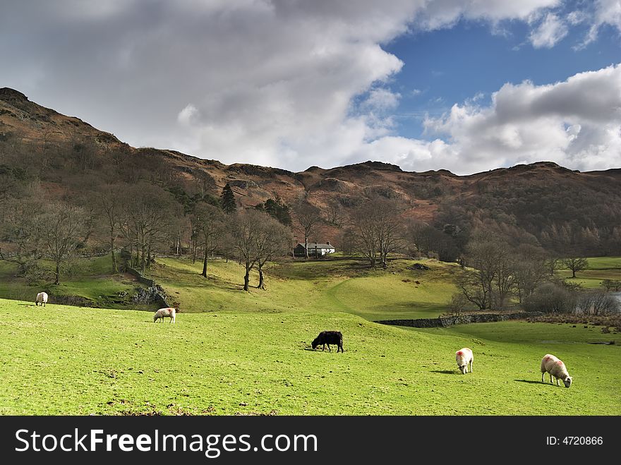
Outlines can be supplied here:
[[[306, 197], [344, 219], [363, 200], [379, 196], [398, 203], [405, 218], [440, 231], [450, 224], [467, 236], [485, 227], [557, 253], [621, 253], [621, 169], [581, 173], [538, 162], [457, 176], [442, 169], [407, 172], [382, 162], [299, 173], [226, 165], [173, 150], [130, 147], [6, 87], [0, 89], [0, 181], [0, 198], [40, 181], [49, 197], [70, 200], [105, 182], [146, 181], [170, 189], [180, 203], [191, 196], [216, 197], [229, 183], [241, 206], [275, 197], [291, 205]], [[336, 241], [339, 231], [339, 224], [328, 221], [320, 234]], [[453, 239], [458, 248], [464, 243]]]

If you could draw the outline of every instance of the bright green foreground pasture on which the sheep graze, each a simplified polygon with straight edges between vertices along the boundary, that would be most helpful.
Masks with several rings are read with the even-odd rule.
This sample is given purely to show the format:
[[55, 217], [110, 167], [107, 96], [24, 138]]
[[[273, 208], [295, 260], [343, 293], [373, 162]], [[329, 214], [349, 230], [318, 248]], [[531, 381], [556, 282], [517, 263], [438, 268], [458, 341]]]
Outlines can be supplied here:
[[[618, 334], [525, 322], [404, 330], [346, 313], [149, 313], [0, 300], [1, 414], [621, 414]], [[344, 354], [310, 351], [319, 330]], [[588, 340], [615, 339], [617, 345]], [[546, 342], [547, 341], [547, 342]], [[471, 346], [474, 373], [454, 351]], [[538, 382], [547, 352], [571, 389]]]

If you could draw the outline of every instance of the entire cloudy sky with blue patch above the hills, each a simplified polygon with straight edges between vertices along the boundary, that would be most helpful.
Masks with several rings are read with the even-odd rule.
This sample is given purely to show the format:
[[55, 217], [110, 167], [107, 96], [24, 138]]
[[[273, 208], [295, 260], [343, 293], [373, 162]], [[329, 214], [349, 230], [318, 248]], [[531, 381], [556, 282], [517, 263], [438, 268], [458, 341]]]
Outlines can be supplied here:
[[621, 167], [621, 0], [23, 0], [0, 86], [135, 147], [302, 171]]

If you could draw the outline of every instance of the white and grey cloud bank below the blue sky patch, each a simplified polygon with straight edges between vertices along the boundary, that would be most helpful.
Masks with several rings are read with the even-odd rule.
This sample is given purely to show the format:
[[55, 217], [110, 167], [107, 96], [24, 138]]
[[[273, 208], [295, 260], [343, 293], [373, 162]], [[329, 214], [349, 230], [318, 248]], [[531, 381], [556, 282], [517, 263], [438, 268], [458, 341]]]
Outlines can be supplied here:
[[621, 166], [621, 66], [578, 73], [564, 82], [505, 84], [489, 107], [455, 104], [425, 122], [447, 137], [441, 157], [456, 172], [542, 159], [576, 169]]

